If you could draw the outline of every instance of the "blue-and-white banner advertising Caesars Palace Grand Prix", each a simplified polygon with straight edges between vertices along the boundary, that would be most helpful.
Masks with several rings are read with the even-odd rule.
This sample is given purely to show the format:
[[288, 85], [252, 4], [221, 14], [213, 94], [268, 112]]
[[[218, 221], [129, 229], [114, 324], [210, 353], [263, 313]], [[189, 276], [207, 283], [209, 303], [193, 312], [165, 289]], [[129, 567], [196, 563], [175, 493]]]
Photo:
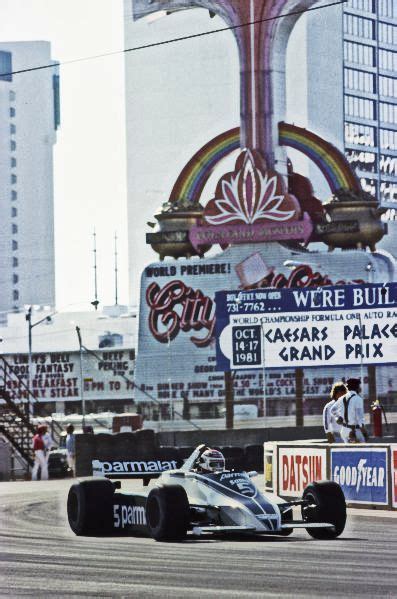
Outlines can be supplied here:
[[397, 283], [216, 294], [220, 370], [392, 364]]

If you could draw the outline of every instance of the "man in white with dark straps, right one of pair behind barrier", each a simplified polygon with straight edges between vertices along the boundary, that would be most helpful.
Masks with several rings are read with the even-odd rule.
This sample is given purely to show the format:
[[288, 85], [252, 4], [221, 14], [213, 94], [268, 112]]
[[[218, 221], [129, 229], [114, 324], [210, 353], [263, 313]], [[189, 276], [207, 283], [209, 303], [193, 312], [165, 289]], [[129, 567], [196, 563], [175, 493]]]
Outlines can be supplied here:
[[348, 379], [348, 392], [331, 407], [331, 414], [341, 425], [340, 434], [345, 443], [365, 443], [368, 433], [364, 423], [364, 400], [360, 395], [360, 379]]

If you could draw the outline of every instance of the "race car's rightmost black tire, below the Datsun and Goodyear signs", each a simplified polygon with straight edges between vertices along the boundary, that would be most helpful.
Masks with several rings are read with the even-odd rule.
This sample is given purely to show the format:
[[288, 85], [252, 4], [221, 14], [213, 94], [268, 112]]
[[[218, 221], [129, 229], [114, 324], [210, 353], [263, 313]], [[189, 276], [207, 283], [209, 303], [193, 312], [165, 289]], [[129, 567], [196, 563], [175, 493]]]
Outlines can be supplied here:
[[307, 528], [314, 539], [336, 539], [346, 524], [346, 501], [340, 486], [332, 481], [310, 483], [303, 491], [303, 499], [310, 505], [302, 506], [306, 522], [328, 522], [334, 528]]

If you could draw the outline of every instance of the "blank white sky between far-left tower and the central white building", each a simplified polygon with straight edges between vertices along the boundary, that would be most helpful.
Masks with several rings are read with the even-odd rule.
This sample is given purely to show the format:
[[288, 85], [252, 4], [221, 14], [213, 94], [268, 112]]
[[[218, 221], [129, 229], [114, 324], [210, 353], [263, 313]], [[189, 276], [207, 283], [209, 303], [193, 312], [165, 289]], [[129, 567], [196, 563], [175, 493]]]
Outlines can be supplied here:
[[[122, 0], [1, 0], [1, 41], [46, 40], [59, 62], [122, 50]], [[128, 303], [124, 55], [60, 67], [61, 126], [54, 146], [56, 304]]]

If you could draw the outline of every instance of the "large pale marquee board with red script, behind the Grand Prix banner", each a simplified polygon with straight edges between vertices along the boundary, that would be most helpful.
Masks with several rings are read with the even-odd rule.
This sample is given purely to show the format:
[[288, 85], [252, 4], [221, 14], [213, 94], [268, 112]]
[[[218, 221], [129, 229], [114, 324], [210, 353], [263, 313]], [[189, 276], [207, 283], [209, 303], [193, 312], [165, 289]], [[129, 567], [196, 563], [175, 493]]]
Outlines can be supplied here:
[[[179, 259], [148, 265], [141, 276], [138, 352], [135, 372], [135, 399], [151, 397], [165, 403], [182, 402], [184, 397], [197, 404], [222, 402], [224, 378], [217, 366], [215, 344], [215, 295], [224, 289], [238, 293], [280, 291], [313, 285], [342, 285], [359, 280], [368, 257], [364, 252], [343, 252], [322, 256], [323, 265], [306, 264], [307, 255], [294, 253], [302, 263], [293, 271], [285, 263], [291, 251], [278, 243], [246, 244], [226, 249], [203, 259]], [[275, 266], [276, 264], [280, 266]], [[381, 273], [381, 265], [376, 272]], [[225, 293], [229, 293], [226, 292]], [[229, 315], [227, 315], [229, 319]], [[221, 319], [222, 320], [222, 319]], [[258, 331], [254, 340], [260, 340]], [[259, 356], [257, 356], [259, 359]], [[340, 369], [325, 365], [305, 369], [306, 398], [324, 397], [333, 382], [352, 374], [352, 362]], [[360, 366], [356, 368], [359, 376]], [[264, 378], [265, 376], [265, 378]], [[379, 393], [397, 389], [394, 367], [377, 369]], [[263, 398], [294, 398], [294, 364], [282, 361], [282, 368], [264, 373], [245, 365], [234, 377], [236, 402]], [[180, 407], [180, 406], [179, 406]]]

